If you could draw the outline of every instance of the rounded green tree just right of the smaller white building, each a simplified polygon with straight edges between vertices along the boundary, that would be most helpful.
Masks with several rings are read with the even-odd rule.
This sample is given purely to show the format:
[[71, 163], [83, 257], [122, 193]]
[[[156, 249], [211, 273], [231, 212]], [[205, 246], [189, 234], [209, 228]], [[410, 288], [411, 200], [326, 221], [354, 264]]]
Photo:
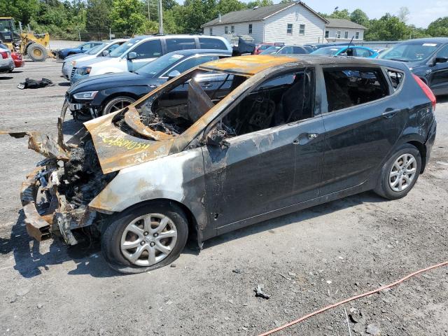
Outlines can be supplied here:
[[410, 33], [411, 30], [405, 22], [386, 13], [379, 20], [370, 20], [364, 38], [366, 41], [395, 41], [409, 38]]

